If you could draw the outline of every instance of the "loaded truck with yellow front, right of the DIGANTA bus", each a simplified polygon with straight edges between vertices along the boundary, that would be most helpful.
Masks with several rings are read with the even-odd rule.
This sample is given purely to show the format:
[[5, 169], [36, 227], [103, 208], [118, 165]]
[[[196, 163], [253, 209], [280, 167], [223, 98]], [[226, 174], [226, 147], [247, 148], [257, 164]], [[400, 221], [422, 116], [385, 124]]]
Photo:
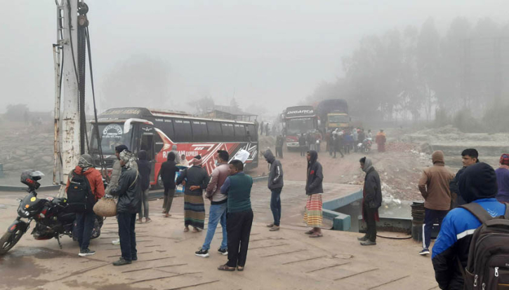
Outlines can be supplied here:
[[325, 99], [316, 106], [322, 130], [350, 127], [352, 118], [348, 115], [348, 103], [344, 99]]

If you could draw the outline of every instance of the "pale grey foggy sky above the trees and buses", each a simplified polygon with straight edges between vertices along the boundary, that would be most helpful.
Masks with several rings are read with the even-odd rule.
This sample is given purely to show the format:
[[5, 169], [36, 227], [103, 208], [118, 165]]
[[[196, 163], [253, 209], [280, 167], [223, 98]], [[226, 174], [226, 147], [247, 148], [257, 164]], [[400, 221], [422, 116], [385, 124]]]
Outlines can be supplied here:
[[[189, 111], [187, 101], [205, 94], [216, 104], [229, 104], [235, 95], [241, 107], [257, 103], [271, 113], [297, 104], [319, 82], [343, 76], [341, 57], [362, 36], [406, 25], [420, 27], [429, 17], [443, 34], [458, 16], [472, 22], [484, 17], [506, 22], [509, 10], [504, 0], [86, 3], [98, 97], [107, 97], [101, 95], [101, 78], [115, 65], [131, 55], [147, 55], [171, 69], [170, 96], [162, 104], [166, 109]], [[51, 111], [55, 3], [1, 4], [0, 113], [7, 104], [18, 103], [29, 104], [32, 111]], [[87, 102], [90, 92], [88, 88]], [[149, 106], [143, 100], [137, 105]]]

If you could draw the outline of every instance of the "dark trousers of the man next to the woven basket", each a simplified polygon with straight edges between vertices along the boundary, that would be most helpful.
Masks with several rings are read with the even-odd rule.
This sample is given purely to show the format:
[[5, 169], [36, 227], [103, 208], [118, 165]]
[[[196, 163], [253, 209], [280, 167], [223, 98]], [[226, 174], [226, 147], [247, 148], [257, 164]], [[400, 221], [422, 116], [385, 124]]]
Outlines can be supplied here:
[[122, 258], [131, 261], [136, 256], [136, 233], [134, 227], [136, 224], [136, 214], [128, 212], [119, 212], [117, 214], [119, 223], [120, 250]]

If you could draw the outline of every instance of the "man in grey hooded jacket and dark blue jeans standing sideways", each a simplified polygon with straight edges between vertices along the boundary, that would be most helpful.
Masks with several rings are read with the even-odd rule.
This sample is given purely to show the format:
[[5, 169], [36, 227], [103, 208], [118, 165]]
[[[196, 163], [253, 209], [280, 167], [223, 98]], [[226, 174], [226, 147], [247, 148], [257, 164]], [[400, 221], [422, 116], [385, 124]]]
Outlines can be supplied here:
[[274, 223], [269, 223], [267, 227], [270, 231], [279, 230], [279, 221], [281, 220], [281, 191], [283, 189], [283, 167], [279, 160], [276, 160], [270, 149], [263, 153], [263, 157], [270, 164], [268, 188], [270, 189], [270, 210], [274, 216]]

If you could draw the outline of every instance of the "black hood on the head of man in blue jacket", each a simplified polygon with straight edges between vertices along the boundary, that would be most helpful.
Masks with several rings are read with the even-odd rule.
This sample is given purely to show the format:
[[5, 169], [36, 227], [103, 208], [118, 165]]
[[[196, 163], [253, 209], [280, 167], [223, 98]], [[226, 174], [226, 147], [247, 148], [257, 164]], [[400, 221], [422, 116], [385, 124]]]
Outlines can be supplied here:
[[465, 168], [458, 181], [460, 194], [470, 203], [481, 198], [494, 198], [498, 193], [496, 173], [486, 163], [476, 163]]

